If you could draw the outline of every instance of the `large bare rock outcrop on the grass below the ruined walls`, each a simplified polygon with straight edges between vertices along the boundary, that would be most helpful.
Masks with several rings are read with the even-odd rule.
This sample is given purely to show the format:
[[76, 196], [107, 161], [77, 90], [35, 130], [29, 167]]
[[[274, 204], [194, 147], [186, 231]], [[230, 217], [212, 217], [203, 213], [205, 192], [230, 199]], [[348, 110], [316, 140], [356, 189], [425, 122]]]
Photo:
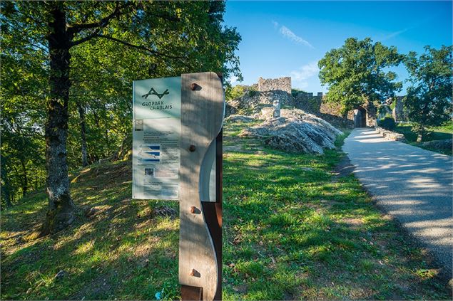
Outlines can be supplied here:
[[323, 149], [335, 149], [335, 139], [342, 134], [325, 120], [298, 109], [283, 109], [281, 117], [274, 118], [273, 109], [265, 107], [253, 117], [264, 121], [240, 136], [264, 139], [270, 147], [286, 152], [323, 154]]

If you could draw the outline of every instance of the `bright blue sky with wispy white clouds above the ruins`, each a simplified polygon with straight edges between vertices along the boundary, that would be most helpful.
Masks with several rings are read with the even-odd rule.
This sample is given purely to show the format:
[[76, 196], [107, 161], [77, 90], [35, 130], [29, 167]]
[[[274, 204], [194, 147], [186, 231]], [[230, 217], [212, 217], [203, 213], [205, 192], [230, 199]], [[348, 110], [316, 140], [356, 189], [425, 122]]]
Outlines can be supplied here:
[[[242, 36], [242, 84], [291, 76], [293, 88], [314, 93], [327, 91], [317, 61], [346, 38], [370, 37], [400, 53], [452, 45], [452, 1], [228, 1], [224, 19]], [[403, 66], [395, 71], [407, 78]]]

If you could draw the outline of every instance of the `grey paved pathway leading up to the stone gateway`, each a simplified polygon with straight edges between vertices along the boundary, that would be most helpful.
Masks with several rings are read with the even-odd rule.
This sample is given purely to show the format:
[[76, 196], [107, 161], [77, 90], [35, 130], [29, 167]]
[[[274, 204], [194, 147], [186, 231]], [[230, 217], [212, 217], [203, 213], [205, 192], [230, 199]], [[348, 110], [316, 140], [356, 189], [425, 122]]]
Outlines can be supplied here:
[[452, 157], [387, 141], [364, 128], [351, 132], [343, 151], [377, 204], [431, 249], [451, 277]]

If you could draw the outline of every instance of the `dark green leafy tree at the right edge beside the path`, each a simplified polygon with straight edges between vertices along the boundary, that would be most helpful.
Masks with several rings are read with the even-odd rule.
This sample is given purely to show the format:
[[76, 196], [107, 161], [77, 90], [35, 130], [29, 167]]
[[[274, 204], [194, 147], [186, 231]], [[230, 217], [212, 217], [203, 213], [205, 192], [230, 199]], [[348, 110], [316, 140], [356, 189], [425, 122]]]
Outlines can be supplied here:
[[426, 127], [442, 125], [451, 117], [452, 50], [452, 46], [439, 50], [425, 46], [418, 58], [411, 51], [404, 60], [412, 82], [404, 106], [409, 120], [415, 123], [417, 141], [422, 141]]

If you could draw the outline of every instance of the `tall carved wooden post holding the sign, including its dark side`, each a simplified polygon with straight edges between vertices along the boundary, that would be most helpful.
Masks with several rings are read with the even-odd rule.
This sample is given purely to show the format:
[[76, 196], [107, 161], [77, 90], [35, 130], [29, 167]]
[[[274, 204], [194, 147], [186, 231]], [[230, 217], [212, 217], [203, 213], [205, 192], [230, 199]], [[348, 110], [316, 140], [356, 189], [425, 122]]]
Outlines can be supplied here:
[[[224, 107], [219, 75], [212, 72], [181, 75], [179, 282], [183, 300], [221, 298], [220, 185]], [[218, 189], [215, 202], [210, 203], [202, 199], [202, 194], [210, 181], [208, 154], [213, 152], [217, 153]]]

